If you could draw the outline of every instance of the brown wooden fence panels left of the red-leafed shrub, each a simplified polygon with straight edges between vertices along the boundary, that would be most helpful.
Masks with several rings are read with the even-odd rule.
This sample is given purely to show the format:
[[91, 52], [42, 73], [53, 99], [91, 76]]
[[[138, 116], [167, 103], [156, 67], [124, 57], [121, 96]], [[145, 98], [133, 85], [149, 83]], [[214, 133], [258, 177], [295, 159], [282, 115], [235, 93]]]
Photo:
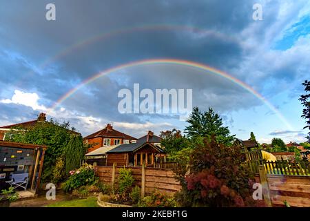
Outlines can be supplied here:
[[[96, 175], [101, 182], [117, 184], [119, 169], [123, 166], [96, 166]], [[152, 167], [130, 167], [134, 176], [135, 185], [141, 187], [141, 195], [152, 193], [155, 189], [172, 195], [180, 191], [181, 185], [176, 180], [176, 174], [171, 169], [159, 169]]]

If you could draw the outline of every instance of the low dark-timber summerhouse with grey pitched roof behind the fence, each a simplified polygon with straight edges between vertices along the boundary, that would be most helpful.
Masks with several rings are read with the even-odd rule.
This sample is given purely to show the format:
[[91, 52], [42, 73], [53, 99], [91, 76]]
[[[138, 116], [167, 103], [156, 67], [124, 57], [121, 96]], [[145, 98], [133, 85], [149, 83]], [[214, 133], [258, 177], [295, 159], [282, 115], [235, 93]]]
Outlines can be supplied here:
[[110, 166], [116, 163], [118, 166], [151, 166], [165, 161], [165, 151], [161, 148], [161, 137], [148, 131], [136, 142], [103, 146], [87, 153], [85, 158], [88, 163], [96, 162], [97, 165]]

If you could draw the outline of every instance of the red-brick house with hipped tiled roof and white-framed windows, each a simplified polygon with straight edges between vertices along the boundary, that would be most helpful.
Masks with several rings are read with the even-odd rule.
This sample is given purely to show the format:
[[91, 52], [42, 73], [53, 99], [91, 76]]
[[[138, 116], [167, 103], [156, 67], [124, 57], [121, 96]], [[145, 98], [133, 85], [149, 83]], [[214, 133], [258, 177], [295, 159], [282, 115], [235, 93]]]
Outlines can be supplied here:
[[107, 126], [101, 131], [97, 131], [96, 133], [84, 137], [84, 142], [92, 145], [92, 147], [88, 149], [88, 153], [101, 147], [110, 147], [119, 144], [133, 144], [136, 143], [136, 141], [136, 138], [116, 131], [111, 124], [107, 124]]

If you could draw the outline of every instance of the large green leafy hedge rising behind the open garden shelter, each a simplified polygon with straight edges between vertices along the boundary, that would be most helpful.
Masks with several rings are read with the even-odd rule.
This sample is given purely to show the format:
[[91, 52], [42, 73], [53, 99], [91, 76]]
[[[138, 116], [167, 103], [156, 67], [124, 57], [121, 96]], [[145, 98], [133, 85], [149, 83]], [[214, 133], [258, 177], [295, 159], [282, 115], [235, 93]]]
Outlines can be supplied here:
[[[82, 137], [80, 135], [75, 135], [72, 133], [72, 131], [70, 131], [74, 131], [74, 128], [70, 127], [69, 122], [63, 122], [63, 124], [59, 124], [59, 122], [50, 119], [49, 122], [38, 122], [30, 128], [17, 127], [13, 129], [19, 130], [11, 131], [12, 137], [10, 137], [10, 141], [12, 142], [48, 146], [44, 156], [43, 174], [41, 177], [42, 182], [59, 180], [59, 177], [54, 178], [54, 171], [56, 162], [60, 157], [64, 157], [63, 159], [65, 161], [65, 158], [67, 157], [68, 166], [72, 169], [74, 166], [75, 168], [79, 167], [79, 164], [76, 162], [81, 162], [81, 160], [83, 160], [84, 155], [81, 154], [81, 146], [83, 145]], [[70, 143], [71, 145], [69, 148], [68, 145]], [[72, 160], [73, 157], [74, 160]], [[67, 162], [65, 162], [65, 166], [63, 166], [64, 173], [65, 167], [68, 166]], [[59, 173], [62, 173], [62, 171]]]

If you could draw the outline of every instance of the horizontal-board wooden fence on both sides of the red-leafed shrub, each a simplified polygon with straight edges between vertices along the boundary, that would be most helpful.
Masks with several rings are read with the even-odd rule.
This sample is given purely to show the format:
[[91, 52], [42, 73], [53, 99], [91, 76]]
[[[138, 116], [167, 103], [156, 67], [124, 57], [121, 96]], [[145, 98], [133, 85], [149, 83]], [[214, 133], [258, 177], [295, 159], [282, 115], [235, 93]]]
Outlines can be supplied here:
[[[117, 184], [119, 169], [123, 166], [96, 166], [101, 182]], [[141, 195], [155, 189], [166, 194], [180, 191], [181, 186], [171, 169], [130, 167], [135, 184], [141, 187]], [[258, 166], [256, 182], [262, 184], [262, 193], [268, 206], [310, 206], [310, 176], [267, 174], [265, 166]]]

